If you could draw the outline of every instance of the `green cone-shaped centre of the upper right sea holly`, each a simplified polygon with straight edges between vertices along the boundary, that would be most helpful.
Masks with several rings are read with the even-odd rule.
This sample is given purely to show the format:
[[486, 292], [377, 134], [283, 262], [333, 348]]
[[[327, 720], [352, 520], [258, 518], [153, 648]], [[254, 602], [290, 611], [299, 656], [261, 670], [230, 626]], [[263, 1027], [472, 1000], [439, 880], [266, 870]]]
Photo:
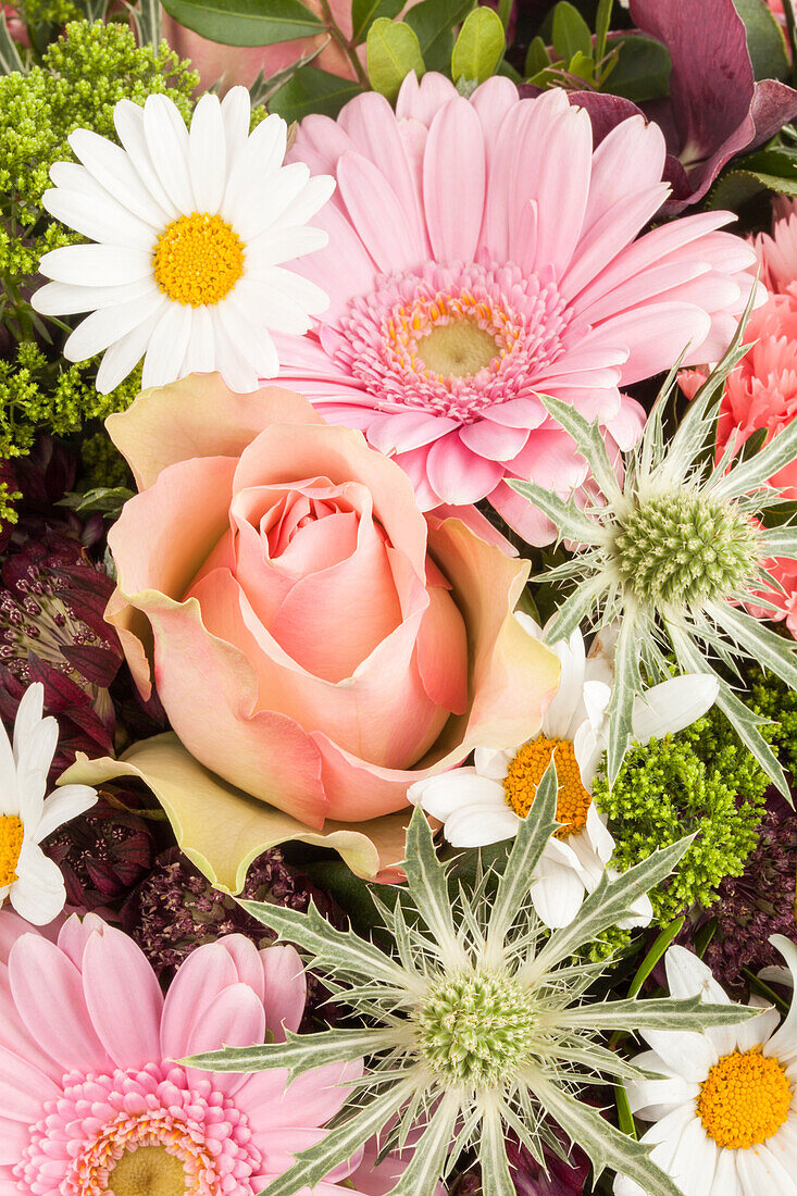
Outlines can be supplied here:
[[647, 499], [623, 520], [616, 567], [656, 606], [696, 605], [743, 590], [761, 556], [759, 535], [732, 504], [673, 493]]

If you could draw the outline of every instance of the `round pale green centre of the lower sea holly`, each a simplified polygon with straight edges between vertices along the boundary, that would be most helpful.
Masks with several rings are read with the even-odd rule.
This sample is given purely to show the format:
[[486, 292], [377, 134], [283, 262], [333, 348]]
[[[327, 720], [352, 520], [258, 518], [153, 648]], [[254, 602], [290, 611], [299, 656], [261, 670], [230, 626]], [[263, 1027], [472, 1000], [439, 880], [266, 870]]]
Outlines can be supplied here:
[[418, 1045], [448, 1084], [504, 1084], [535, 1041], [525, 989], [510, 976], [470, 972], [442, 983], [414, 1017]]

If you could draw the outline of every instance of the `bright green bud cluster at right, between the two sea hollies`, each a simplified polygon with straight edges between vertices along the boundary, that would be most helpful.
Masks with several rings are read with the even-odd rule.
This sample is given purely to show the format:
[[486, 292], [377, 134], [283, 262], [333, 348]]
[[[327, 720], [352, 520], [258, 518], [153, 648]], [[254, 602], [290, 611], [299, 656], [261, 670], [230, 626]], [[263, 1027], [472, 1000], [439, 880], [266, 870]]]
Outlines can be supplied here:
[[657, 847], [696, 835], [677, 875], [650, 893], [657, 923], [692, 905], [707, 909], [722, 880], [742, 874], [758, 842], [767, 785], [717, 709], [676, 736], [634, 746], [613, 787], [606, 776], [596, 779], [592, 797], [616, 843], [613, 867], [625, 871]]

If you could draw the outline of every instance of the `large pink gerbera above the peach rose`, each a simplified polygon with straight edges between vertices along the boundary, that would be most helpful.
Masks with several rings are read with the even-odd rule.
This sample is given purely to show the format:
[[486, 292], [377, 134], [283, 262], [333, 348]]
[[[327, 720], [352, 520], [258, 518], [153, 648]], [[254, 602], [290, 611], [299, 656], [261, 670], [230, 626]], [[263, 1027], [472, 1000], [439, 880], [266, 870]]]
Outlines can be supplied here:
[[334, 175], [327, 249], [299, 263], [331, 304], [279, 338], [280, 377], [324, 419], [361, 428], [412, 477], [424, 509], [487, 498], [533, 543], [553, 526], [506, 484], [560, 493], [586, 466], [540, 393], [597, 417], [629, 448], [621, 388], [719, 358], [754, 261], [734, 216], [686, 216], [634, 240], [668, 194], [661, 129], [641, 116], [595, 147], [554, 89], [521, 99], [493, 78], [470, 99], [409, 75], [396, 111], [375, 92], [336, 121], [308, 116], [294, 160]]

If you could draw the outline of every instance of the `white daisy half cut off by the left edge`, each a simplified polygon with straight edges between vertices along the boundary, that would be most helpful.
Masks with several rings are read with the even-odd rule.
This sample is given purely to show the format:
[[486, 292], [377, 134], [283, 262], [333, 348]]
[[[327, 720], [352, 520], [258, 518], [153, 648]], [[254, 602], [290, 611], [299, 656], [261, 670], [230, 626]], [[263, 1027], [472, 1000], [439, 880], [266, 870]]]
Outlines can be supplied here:
[[45, 926], [63, 909], [66, 890], [42, 840], [90, 810], [97, 791], [65, 785], [44, 797], [59, 739], [55, 719], [42, 718], [44, 687], [30, 685], [17, 710], [13, 746], [0, 724], [0, 905], [6, 901], [26, 921]]

